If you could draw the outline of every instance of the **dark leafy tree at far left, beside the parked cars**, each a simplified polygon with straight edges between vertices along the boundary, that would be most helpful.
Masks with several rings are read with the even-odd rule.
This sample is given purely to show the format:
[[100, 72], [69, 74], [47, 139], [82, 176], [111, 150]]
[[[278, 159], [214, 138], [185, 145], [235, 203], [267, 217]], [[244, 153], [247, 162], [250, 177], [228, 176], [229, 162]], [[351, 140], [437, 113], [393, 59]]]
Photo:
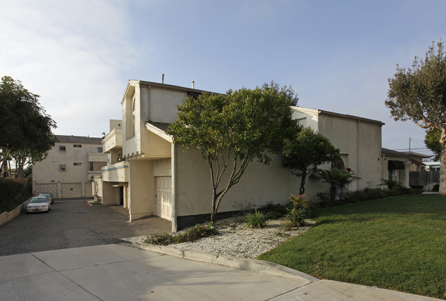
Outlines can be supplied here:
[[25, 164], [41, 160], [56, 143], [56, 136], [51, 132], [56, 122], [40, 106], [38, 97], [20, 81], [1, 77], [0, 165], [14, 158], [22, 176]]

